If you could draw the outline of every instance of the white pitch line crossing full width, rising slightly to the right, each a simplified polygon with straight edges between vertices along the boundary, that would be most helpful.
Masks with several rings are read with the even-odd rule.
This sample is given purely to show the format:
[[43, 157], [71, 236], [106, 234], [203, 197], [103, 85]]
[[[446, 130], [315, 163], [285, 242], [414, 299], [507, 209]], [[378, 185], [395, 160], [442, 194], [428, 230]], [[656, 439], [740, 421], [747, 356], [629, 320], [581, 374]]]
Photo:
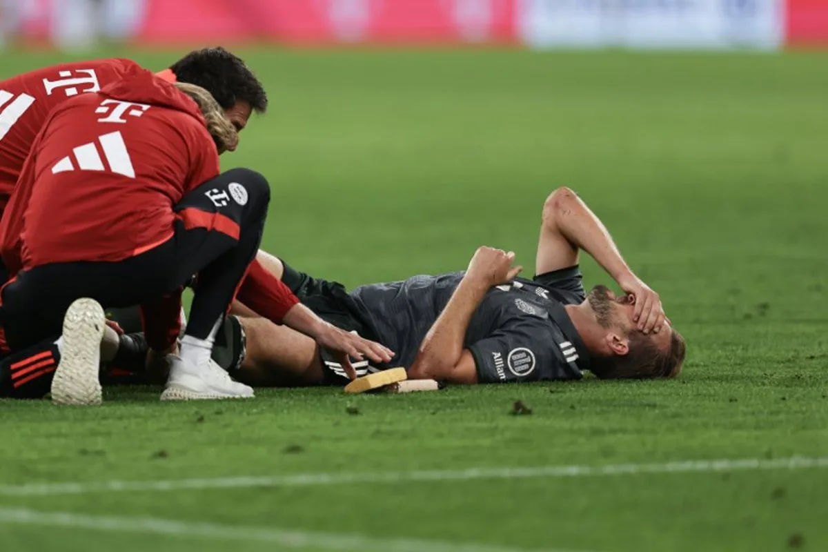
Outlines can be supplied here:
[[473, 479], [587, 478], [640, 473], [709, 473], [768, 469], [828, 468], [828, 456], [687, 460], [668, 463], [621, 463], [603, 466], [539, 466], [534, 468], [469, 468], [456, 471], [378, 473], [307, 473], [297, 475], [172, 479], [161, 481], [104, 481], [29, 483], [0, 487], [0, 497], [31, 497], [91, 492], [157, 492], [246, 487], [311, 487], [349, 483], [469, 481]]

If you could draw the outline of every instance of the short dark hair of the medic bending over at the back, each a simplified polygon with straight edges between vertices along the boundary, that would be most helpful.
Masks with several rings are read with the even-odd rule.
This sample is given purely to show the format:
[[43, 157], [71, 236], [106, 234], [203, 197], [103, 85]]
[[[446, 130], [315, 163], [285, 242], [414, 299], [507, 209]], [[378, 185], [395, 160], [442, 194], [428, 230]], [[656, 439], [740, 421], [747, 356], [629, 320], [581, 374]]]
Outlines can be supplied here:
[[238, 55], [220, 46], [191, 51], [170, 69], [178, 82], [207, 89], [224, 109], [243, 100], [257, 113], [267, 111], [267, 94], [262, 83]]

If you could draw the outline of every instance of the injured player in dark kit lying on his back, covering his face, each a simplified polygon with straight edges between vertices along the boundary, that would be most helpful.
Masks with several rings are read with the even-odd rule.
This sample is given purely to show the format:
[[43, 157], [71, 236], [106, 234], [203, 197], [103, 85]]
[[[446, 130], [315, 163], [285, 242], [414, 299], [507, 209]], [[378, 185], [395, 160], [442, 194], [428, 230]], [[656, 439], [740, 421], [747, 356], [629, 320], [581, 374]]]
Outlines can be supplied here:
[[[412, 379], [532, 382], [579, 379], [585, 370], [608, 379], [675, 376], [685, 341], [595, 214], [561, 188], [546, 200], [542, 221], [532, 280], [514, 279], [513, 254], [488, 247], [474, 254], [465, 273], [414, 276], [350, 293], [278, 259], [269, 265], [320, 317], [395, 351], [381, 368], [406, 367]], [[626, 295], [604, 286], [585, 294], [581, 249]], [[320, 355], [310, 339], [266, 320], [242, 322], [248, 357], [240, 381], [254, 386], [346, 381], [339, 364]]]

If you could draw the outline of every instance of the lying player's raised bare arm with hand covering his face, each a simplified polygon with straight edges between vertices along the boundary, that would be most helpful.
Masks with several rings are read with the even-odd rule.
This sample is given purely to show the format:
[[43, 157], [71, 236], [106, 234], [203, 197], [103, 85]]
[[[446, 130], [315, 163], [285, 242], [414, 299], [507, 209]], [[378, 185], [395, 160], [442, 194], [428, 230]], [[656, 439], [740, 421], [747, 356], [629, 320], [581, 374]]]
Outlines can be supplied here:
[[574, 266], [579, 249], [589, 253], [631, 295], [639, 330], [648, 334], [662, 329], [665, 314], [658, 294], [630, 269], [607, 228], [578, 194], [566, 187], [559, 188], [543, 205], [535, 261], [537, 274]]

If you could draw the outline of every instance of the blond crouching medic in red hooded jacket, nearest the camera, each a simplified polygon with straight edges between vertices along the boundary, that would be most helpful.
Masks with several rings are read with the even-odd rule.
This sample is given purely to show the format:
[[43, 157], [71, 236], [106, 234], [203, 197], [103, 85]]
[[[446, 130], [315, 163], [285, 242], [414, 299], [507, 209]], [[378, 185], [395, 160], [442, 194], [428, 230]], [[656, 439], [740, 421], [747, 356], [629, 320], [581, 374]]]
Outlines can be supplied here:
[[[3, 217], [3, 236], [17, 236], [3, 247], [17, 277], [2, 290], [2, 320], [12, 351], [27, 353], [60, 334], [65, 313], [63, 358], [51, 386], [56, 401], [100, 401], [103, 311], [89, 300], [73, 305], [84, 297], [142, 305], [147, 342], [171, 363], [162, 398], [253, 396], [210, 361], [236, 291], [248, 287], [250, 295], [266, 295], [270, 289], [244, 278], [267, 216], [267, 180], [244, 169], [219, 175], [218, 153], [237, 141], [236, 129], [204, 89], [173, 86], [140, 68], [51, 113]], [[15, 225], [22, 231], [7, 231]], [[181, 357], [167, 356], [176, 351], [181, 287], [196, 273]], [[285, 290], [264, 298], [277, 319], [295, 313], [305, 323], [319, 320], [265, 275]], [[333, 334], [349, 346], [385, 353], [339, 329]], [[12, 389], [37, 376], [51, 379], [55, 371], [25, 361], [9, 366], [4, 382]]]

